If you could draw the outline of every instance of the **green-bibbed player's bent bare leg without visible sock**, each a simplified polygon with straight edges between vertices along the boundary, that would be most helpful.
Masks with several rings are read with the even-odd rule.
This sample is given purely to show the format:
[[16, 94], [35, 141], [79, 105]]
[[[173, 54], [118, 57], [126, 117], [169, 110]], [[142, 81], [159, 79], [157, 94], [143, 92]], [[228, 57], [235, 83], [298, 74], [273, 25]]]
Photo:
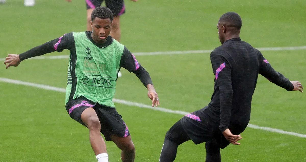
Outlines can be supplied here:
[[135, 160], [135, 147], [132, 142], [131, 136], [118, 137], [116, 135], [111, 136], [112, 141], [121, 150], [122, 162], [134, 162]]

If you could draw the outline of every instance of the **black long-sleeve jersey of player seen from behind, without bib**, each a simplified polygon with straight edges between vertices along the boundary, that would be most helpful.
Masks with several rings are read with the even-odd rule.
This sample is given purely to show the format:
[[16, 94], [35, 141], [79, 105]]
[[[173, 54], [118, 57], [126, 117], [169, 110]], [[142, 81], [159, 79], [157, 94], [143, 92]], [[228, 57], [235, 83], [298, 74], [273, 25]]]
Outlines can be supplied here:
[[221, 132], [230, 125], [248, 125], [258, 74], [288, 91], [293, 90], [293, 84], [276, 72], [259, 50], [240, 38], [227, 40], [211, 52], [210, 58], [215, 90], [208, 116], [220, 122]]

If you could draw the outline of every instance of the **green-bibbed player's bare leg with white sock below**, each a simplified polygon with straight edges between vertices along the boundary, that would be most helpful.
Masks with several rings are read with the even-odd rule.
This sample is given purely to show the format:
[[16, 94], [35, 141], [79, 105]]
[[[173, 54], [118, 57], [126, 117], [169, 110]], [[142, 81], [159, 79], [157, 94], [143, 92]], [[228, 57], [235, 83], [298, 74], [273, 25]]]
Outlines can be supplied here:
[[106, 153], [105, 142], [100, 134], [101, 123], [95, 110], [92, 107], [85, 109], [81, 119], [89, 130], [89, 141], [95, 155]]

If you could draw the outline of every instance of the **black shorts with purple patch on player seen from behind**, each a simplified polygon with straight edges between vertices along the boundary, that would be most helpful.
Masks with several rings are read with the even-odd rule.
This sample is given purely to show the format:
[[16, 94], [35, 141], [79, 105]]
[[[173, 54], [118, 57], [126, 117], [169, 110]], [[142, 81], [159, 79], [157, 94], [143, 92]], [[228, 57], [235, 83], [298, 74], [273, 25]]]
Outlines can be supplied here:
[[[194, 144], [200, 144], [203, 142], [216, 139], [220, 144], [220, 148], [225, 148], [230, 144], [219, 130], [219, 122], [211, 120], [207, 111], [207, 107], [195, 111], [191, 114], [185, 115], [181, 118], [181, 124], [183, 129], [192, 140]], [[246, 126], [230, 125], [229, 129], [233, 135], [239, 135], [244, 131]]]

